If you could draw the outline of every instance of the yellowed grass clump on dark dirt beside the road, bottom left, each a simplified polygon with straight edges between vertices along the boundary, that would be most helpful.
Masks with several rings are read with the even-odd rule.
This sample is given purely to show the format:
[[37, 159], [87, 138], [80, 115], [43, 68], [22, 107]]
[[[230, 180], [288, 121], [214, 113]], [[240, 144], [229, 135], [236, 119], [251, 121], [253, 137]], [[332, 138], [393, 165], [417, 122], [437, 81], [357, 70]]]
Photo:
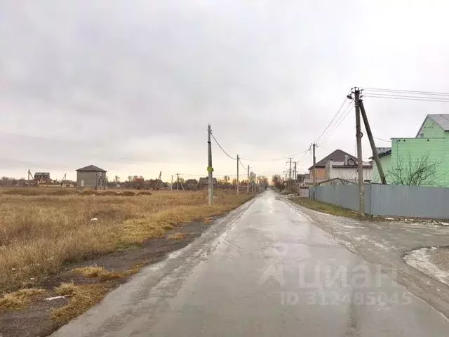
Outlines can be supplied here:
[[69, 303], [53, 310], [51, 318], [59, 324], [65, 324], [98, 303], [108, 290], [104, 284], [61, 284], [55, 288], [55, 292], [60, 296], [69, 297]]

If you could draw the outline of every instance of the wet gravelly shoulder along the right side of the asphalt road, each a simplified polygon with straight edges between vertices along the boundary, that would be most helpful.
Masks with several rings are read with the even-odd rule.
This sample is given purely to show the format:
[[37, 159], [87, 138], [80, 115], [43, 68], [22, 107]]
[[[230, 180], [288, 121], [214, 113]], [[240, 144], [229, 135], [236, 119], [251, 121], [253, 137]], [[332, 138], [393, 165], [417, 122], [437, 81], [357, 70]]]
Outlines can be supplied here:
[[333, 216], [282, 198], [349, 251], [380, 265], [382, 272], [449, 317], [449, 286], [411, 267], [403, 259], [415, 249], [447, 246], [448, 226], [401, 220], [360, 220], [340, 214]]

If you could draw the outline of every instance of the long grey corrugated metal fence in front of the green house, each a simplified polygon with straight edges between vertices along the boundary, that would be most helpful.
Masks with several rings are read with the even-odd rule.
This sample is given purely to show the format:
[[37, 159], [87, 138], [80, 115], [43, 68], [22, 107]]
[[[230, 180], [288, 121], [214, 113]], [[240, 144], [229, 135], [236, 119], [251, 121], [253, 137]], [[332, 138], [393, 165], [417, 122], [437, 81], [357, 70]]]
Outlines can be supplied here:
[[[311, 188], [311, 199], [358, 211], [358, 185]], [[449, 218], [449, 188], [365, 185], [365, 213], [373, 216]]]

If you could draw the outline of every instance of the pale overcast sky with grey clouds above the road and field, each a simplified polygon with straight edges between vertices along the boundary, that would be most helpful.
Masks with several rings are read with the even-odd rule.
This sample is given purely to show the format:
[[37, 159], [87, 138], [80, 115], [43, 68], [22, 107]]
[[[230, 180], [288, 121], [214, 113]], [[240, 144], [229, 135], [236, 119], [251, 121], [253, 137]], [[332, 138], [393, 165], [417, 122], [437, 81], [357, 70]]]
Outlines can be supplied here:
[[[443, 0], [0, 0], [0, 176], [74, 178], [88, 164], [109, 178], [206, 176], [208, 123], [232, 156], [294, 157], [305, 172], [304, 150], [351, 87], [449, 91], [448, 11]], [[449, 112], [365, 105], [387, 140]], [[317, 160], [356, 154], [354, 128], [351, 112]], [[242, 161], [269, 177], [286, 169]], [[236, 174], [215, 144], [213, 166]]]

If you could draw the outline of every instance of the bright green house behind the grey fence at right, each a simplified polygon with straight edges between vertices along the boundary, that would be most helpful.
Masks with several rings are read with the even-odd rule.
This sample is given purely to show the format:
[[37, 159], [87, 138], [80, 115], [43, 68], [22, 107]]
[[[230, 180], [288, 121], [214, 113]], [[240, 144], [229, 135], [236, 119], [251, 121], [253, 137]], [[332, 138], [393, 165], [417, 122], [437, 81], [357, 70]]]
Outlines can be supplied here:
[[[391, 138], [391, 150], [379, 157], [389, 184], [400, 184], [398, 175], [422, 174], [427, 178], [409, 185], [449, 187], [449, 114], [428, 114], [415, 138]], [[373, 183], [380, 183], [375, 163]]]

